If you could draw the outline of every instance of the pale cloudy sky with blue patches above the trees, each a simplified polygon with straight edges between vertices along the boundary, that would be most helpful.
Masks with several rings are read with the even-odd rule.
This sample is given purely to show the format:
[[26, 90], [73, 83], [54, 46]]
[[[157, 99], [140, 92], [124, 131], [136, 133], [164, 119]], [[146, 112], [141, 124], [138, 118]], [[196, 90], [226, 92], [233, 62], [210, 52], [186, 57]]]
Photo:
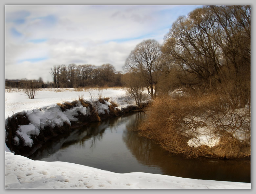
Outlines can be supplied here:
[[163, 43], [172, 23], [200, 6], [6, 5], [5, 78], [53, 81], [54, 65], [112, 64], [143, 40]]

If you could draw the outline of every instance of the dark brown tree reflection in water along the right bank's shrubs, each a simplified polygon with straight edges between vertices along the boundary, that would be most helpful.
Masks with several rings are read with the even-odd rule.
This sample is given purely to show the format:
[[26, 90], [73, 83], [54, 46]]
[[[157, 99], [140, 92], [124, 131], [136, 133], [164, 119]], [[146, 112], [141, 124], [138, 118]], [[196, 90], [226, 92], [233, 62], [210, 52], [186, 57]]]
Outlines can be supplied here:
[[250, 181], [250, 162], [248, 163], [246, 160], [185, 159], [181, 156], [170, 155], [152, 140], [139, 137], [137, 132], [131, 129], [138, 126], [144, 117], [143, 113], [132, 116], [126, 125], [127, 130], [124, 130], [122, 136], [127, 149], [139, 163], [158, 167], [163, 174], [171, 176], [238, 182]]

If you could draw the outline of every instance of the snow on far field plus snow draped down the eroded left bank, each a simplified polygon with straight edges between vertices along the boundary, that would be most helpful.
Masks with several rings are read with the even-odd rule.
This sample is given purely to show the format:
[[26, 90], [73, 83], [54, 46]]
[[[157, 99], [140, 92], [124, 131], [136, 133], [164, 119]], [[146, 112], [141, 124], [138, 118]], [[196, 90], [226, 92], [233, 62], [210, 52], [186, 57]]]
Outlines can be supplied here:
[[[59, 89], [59, 91], [60, 90], [61, 89]], [[56, 104], [61, 102], [59, 101], [60, 95], [62, 99], [65, 99], [64, 102], [76, 101], [76, 106], [62, 112], [60, 107]], [[89, 107], [83, 107], [81, 102], [77, 100], [79, 97], [83, 97], [86, 101], [91, 103], [94, 101], [92, 104], [94, 104], [98, 114], [105, 114], [105, 112], [109, 113], [108, 108], [111, 103], [106, 100], [104, 100], [105, 104], [100, 103], [95, 96], [109, 97], [110, 101], [122, 106], [118, 108], [118, 110], [129, 105], [135, 105], [134, 101], [126, 96], [125, 91], [121, 89], [89, 90], [81, 92], [75, 92], [74, 89], [62, 89], [62, 92], [55, 92], [54, 89], [44, 89], [38, 91], [38, 94], [34, 99], [29, 100], [21, 91], [13, 91], [6, 93], [6, 99], [8, 100], [6, 100], [5, 103], [5, 116], [7, 118], [11, 112], [15, 114], [19, 111], [26, 112], [30, 124], [19, 126], [18, 133], [23, 137], [25, 145], [32, 147], [33, 140], [30, 138], [31, 135], [38, 135], [40, 129], [44, 129], [45, 126], [54, 128], [55, 126], [61, 127], [64, 123], [70, 125], [71, 121], [78, 120], [78, 118], [74, 117], [75, 115], [78, 115], [78, 112], [83, 115], [90, 115]], [[13, 106], [13, 104], [15, 104], [15, 106]], [[28, 107], [30, 109], [28, 109]], [[17, 136], [14, 137], [14, 141], [15, 145], [19, 145], [19, 138]]]

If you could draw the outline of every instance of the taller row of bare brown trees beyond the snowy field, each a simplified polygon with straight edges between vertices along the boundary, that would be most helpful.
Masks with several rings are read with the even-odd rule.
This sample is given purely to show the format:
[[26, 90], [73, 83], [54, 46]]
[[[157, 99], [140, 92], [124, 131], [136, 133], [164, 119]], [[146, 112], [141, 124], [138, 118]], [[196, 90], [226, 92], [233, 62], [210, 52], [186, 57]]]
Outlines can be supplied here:
[[111, 64], [53, 66], [51, 68], [55, 88], [113, 87], [122, 86], [122, 73]]

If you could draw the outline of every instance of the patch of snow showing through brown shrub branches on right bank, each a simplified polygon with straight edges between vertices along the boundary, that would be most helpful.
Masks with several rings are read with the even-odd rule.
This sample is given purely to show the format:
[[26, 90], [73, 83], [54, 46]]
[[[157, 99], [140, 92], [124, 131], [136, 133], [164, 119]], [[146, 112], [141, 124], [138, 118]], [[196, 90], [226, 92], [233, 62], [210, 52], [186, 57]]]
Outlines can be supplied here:
[[[188, 146], [196, 148], [206, 145], [212, 148], [215, 145], [218, 145], [221, 139], [221, 134], [217, 134], [214, 131], [220, 126], [227, 126], [226, 132], [232, 134], [233, 137], [237, 138], [239, 141], [250, 144], [250, 131], [248, 131], [248, 128], [250, 129], [250, 127], [248, 126], [250, 126], [251, 121], [250, 109], [248, 106], [247, 108], [230, 110], [225, 115], [215, 116], [218, 117], [215, 117], [215, 119], [211, 119], [205, 115], [201, 118], [196, 117], [196, 119], [205, 126], [191, 128], [185, 131], [184, 134], [194, 136], [187, 142]], [[188, 123], [195, 122], [192, 117], [193, 115], [191, 115], [191, 118], [185, 118], [184, 121], [187, 121]]]

